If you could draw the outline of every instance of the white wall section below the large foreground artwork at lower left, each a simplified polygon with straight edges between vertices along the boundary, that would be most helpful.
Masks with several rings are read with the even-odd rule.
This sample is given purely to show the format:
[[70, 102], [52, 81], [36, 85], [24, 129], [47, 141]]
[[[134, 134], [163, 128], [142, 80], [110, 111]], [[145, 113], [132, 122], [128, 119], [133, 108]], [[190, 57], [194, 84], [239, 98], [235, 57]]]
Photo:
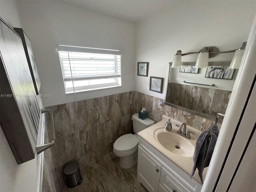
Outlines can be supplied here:
[[18, 165], [1, 127], [0, 145], [0, 191], [38, 192], [42, 154], [36, 154], [33, 160]]

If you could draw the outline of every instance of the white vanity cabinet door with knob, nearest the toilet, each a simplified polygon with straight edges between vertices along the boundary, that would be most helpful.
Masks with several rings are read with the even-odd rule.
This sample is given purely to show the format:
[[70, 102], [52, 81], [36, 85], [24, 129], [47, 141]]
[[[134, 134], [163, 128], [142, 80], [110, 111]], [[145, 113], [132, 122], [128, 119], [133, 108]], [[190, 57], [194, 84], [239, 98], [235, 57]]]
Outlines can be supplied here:
[[149, 192], [157, 192], [160, 180], [161, 165], [147, 152], [138, 150], [138, 181]]

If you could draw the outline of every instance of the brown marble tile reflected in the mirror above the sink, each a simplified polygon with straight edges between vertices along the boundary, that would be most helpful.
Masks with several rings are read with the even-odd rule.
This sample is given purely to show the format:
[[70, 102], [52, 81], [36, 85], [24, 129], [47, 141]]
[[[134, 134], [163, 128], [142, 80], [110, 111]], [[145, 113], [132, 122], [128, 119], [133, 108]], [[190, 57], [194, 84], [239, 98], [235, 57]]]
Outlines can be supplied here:
[[217, 113], [225, 113], [231, 92], [228, 90], [169, 83], [166, 100], [177, 106], [215, 116]]

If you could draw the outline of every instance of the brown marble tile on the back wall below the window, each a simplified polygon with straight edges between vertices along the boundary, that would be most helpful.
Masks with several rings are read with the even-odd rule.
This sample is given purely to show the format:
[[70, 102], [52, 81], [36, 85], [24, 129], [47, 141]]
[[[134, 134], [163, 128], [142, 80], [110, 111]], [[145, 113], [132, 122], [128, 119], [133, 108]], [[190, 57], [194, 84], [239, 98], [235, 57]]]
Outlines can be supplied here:
[[60, 163], [83, 167], [111, 152], [118, 137], [132, 132], [132, 100], [133, 92], [125, 92], [48, 107]]

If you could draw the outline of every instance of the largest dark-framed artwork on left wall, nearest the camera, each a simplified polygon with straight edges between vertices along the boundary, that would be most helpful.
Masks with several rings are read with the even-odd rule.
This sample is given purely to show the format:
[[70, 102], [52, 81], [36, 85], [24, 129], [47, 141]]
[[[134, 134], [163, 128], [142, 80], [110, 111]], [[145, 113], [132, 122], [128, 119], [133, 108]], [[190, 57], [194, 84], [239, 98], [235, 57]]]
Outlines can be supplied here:
[[16, 162], [35, 156], [40, 108], [20, 36], [0, 18], [0, 123]]

